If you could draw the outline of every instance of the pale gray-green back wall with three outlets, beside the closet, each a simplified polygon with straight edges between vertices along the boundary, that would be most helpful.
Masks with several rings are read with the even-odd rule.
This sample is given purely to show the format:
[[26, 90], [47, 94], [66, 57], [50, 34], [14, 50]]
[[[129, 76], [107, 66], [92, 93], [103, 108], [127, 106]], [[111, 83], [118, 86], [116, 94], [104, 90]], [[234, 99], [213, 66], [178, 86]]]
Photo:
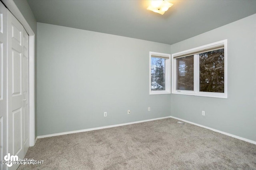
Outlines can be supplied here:
[[149, 95], [149, 51], [170, 53], [170, 45], [45, 23], [37, 29], [38, 136], [170, 116], [170, 94]]

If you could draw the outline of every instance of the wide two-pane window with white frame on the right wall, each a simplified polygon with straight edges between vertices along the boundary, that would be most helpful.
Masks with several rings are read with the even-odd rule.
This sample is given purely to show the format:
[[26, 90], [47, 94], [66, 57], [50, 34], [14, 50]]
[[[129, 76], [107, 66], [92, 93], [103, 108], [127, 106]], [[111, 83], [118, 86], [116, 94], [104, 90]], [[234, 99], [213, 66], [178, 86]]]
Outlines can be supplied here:
[[227, 40], [172, 54], [172, 94], [227, 98]]

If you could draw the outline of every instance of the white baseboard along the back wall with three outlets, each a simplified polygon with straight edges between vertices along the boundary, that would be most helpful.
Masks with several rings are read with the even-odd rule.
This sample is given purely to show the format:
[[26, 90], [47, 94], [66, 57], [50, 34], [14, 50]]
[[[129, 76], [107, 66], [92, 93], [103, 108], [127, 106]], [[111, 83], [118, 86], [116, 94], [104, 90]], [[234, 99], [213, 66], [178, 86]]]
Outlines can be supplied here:
[[[50, 135], [42, 135], [42, 136], [36, 137], [36, 139], [45, 138], [45, 137], [59, 136], [59, 135], [67, 135], [67, 134], [71, 134], [71, 133], [94, 131], [94, 130], [106, 129], [106, 128], [110, 128], [110, 127], [124, 126], [124, 125], [130, 125], [130, 124], [134, 124], [134, 123], [142, 123], [142, 122], [146, 122], [146, 121], [153, 121], [153, 120], [166, 119], [166, 118], [170, 118], [170, 116], [160, 117], [160, 118], [155, 118], [155, 119], [142, 120], [142, 121], [134, 121], [134, 122], [130, 122], [130, 123], [122, 123], [122, 124], [118, 124], [118, 125], [109, 125], [109, 126], [95, 127], [95, 128], [90, 128], [90, 129], [82, 129], [82, 130], [78, 130], [78, 131], [69, 131], [69, 132], [62, 132], [62, 133], [54, 133], [54, 134], [50, 134]], [[36, 143], [36, 141], [35, 141], [35, 143]]]

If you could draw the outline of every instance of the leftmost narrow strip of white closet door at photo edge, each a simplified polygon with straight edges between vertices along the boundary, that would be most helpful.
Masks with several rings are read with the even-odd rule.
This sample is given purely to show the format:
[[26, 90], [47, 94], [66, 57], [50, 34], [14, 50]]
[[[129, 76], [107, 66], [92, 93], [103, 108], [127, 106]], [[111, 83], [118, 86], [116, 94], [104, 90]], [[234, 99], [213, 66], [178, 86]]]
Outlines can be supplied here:
[[[0, 160], [7, 150], [7, 9], [0, 2]], [[0, 164], [0, 170], [6, 169]]]

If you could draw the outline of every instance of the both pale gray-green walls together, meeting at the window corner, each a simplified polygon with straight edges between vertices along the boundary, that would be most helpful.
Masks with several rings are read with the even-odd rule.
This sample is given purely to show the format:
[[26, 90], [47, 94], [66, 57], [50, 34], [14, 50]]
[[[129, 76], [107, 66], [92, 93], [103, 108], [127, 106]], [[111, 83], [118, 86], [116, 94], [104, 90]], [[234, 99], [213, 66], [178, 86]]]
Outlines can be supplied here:
[[[228, 99], [148, 94], [149, 51], [223, 39]], [[255, 44], [256, 14], [173, 45], [38, 23], [38, 135], [172, 115], [256, 141]]]

